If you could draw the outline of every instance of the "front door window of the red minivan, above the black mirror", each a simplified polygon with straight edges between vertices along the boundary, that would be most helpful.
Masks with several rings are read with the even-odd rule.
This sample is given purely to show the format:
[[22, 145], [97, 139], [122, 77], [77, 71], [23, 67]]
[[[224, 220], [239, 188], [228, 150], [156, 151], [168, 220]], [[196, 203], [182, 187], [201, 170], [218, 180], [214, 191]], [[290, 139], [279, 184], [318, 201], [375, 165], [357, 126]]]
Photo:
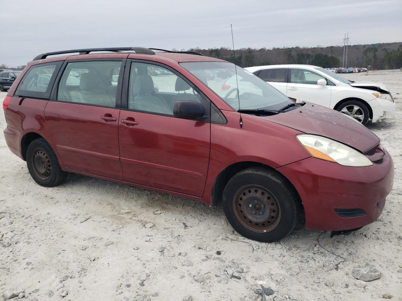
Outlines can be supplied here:
[[207, 103], [193, 87], [178, 75], [158, 65], [131, 63], [128, 108], [135, 111], [173, 116], [174, 104], [181, 100]]

